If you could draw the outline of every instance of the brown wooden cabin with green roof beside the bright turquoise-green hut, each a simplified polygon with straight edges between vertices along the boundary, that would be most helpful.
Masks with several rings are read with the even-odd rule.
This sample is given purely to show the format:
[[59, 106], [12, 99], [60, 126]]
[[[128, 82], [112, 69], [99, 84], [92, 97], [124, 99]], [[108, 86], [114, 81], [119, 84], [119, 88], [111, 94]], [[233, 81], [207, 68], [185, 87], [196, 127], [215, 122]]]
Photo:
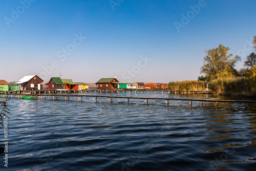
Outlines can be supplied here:
[[118, 89], [120, 82], [116, 78], [101, 78], [95, 84], [98, 89]]

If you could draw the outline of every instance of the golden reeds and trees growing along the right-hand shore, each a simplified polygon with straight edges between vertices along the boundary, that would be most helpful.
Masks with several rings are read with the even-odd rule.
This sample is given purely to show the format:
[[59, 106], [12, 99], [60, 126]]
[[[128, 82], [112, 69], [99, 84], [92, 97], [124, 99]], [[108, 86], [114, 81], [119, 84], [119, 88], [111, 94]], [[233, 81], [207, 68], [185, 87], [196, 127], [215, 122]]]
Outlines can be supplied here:
[[[253, 37], [252, 52], [244, 61], [244, 67], [236, 70], [237, 61], [241, 56], [229, 54], [230, 48], [219, 45], [214, 49], [205, 50], [203, 66], [198, 80], [169, 82], [170, 90], [204, 91], [208, 84], [210, 91], [218, 95], [256, 96], [256, 36]], [[251, 46], [252, 47], [252, 46]]]

